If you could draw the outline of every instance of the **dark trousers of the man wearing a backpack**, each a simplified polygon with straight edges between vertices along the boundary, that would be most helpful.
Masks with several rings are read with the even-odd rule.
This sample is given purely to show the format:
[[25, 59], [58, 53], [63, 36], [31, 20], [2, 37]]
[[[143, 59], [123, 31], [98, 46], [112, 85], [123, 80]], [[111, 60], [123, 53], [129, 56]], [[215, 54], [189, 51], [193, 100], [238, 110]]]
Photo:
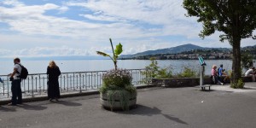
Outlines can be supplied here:
[[[21, 94], [21, 87], [20, 87], [21, 79], [14, 79], [12, 81], [12, 104], [22, 103], [22, 94]], [[18, 97], [18, 99], [17, 99]]]

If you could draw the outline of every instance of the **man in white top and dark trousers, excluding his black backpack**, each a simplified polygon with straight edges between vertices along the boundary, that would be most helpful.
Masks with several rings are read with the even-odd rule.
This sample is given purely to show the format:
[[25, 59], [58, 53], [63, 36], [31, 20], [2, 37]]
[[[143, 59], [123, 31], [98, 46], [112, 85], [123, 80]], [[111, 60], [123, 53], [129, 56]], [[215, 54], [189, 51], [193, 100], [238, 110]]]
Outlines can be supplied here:
[[[22, 94], [21, 94], [21, 87], [20, 87], [20, 73], [21, 73], [21, 64], [20, 64], [20, 58], [14, 59], [15, 67], [13, 73], [9, 74], [9, 80], [12, 81], [12, 99], [9, 105], [17, 105], [22, 103]], [[17, 99], [18, 97], [18, 99]]]

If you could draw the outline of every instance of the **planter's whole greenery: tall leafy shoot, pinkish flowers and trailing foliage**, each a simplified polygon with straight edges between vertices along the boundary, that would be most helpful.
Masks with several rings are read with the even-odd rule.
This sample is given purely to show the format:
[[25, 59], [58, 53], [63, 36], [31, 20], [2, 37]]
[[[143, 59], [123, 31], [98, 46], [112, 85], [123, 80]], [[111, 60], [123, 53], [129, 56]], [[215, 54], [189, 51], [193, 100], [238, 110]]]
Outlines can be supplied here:
[[[111, 38], [109, 38], [113, 56], [108, 55], [102, 51], [96, 51], [98, 55], [108, 56], [114, 65], [114, 69], [109, 70], [106, 73], [103, 73], [102, 80], [103, 84], [100, 88], [101, 92], [101, 99], [102, 99], [102, 106], [109, 107], [113, 110], [113, 106], [115, 102], [123, 108], [123, 110], [129, 110], [131, 106], [136, 104], [137, 100], [137, 90], [131, 84], [131, 73], [125, 69], [120, 69], [117, 67], [117, 59], [119, 55], [122, 53], [122, 44], [116, 45], [116, 49], [113, 49], [113, 44]], [[104, 102], [106, 99], [103, 98], [107, 96], [108, 103]], [[116, 105], [115, 108], [119, 108], [120, 106]]]

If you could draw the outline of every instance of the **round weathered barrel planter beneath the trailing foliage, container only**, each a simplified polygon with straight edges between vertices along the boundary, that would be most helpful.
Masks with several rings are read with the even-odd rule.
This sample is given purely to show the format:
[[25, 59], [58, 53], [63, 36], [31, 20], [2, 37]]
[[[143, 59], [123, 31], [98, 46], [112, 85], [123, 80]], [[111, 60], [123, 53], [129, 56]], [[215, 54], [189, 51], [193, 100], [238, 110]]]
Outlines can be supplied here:
[[124, 109], [124, 104], [127, 105], [128, 108], [134, 108], [136, 106], [137, 102], [137, 92], [135, 93], [130, 93], [126, 91], [127, 101], [124, 102], [121, 100], [121, 97], [119, 95], [119, 91], [121, 90], [114, 90], [116, 93], [112, 96], [113, 99], [108, 99], [111, 98], [107, 95], [107, 93], [101, 93], [101, 104], [102, 107], [108, 108], [111, 110], [122, 110]]

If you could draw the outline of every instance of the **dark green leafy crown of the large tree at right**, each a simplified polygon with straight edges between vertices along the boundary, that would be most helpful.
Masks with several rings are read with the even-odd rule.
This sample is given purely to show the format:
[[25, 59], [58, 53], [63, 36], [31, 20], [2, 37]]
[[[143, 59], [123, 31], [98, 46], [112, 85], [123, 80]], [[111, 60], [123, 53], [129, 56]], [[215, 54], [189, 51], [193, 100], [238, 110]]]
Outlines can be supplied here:
[[215, 31], [224, 32], [219, 38], [233, 44], [234, 29], [237, 38], [250, 38], [256, 28], [255, 0], [184, 0], [187, 16], [199, 17], [203, 30], [201, 38], [212, 35]]

